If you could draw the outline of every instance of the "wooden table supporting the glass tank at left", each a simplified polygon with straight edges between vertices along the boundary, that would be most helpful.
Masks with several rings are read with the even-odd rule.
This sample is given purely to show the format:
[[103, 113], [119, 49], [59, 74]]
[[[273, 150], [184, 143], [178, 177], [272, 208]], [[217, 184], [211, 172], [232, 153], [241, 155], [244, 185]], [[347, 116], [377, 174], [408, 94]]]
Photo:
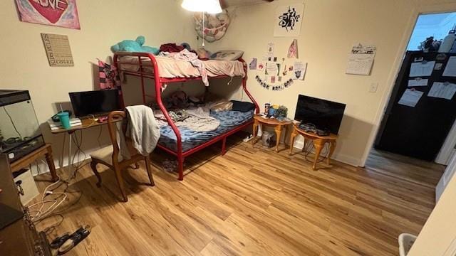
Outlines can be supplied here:
[[57, 172], [56, 166], [54, 165], [54, 159], [52, 157], [52, 147], [51, 144], [46, 144], [41, 146], [34, 151], [31, 151], [26, 156], [21, 157], [21, 159], [15, 161], [11, 164], [11, 171], [19, 171], [23, 168], [28, 167], [33, 161], [38, 159], [38, 157], [45, 156], [46, 162], [48, 163], [49, 171], [51, 172], [52, 181], [57, 181]]

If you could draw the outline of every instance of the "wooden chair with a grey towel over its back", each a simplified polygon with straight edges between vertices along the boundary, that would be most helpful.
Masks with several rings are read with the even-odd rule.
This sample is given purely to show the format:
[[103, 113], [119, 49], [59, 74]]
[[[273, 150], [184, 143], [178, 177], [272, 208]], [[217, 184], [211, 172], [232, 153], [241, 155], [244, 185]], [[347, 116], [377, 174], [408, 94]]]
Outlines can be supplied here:
[[101, 177], [97, 171], [97, 165], [103, 164], [108, 166], [115, 172], [115, 178], [117, 179], [118, 186], [120, 188], [120, 192], [123, 196], [123, 201], [127, 202], [128, 197], [127, 193], [125, 192], [125, 187], [123, 184], [123, 178], [121, 171], [123, 169], [128, 168], [128, 166], [135, 164], [136, 168], [138, 169], [138, 161], [145, 161], [145, 168], [147, 169], [147, 174], [149, 175], [150, 185], [155, 186], [154, 179], [152, 177], [152, 170], [151, 170], [151, 162], [150, 156], [142, 156], [138, 154], [138, 151], [133, 148], [131, 144], [131, 140], [125, 137], [125, 130], [126, 127], [122, 127], [122, 132], [125, 137], [126, 144], [128, 146], [128, 150], [130, 151], [131, 159], [124, 160], [121, 155], [119, 155], [119, 146], [117, 141], [117, 129], [116, 129], [116, 122], [119, 121], [120, 118], [125, 118], [126, 114], [123, 111], [114, 111], [110, 112], [108, 115], [108, 129], [109, 129], [109, 137], [112, 142], [112, 146], [105, 146], [103, 149], [98, 149], [97, 151], [90, 154], [92, 157], [92, 162], [90, 163], [90, 167], [92, 167], [93, 173], [98, 178], [97, 186], [101, 186]]

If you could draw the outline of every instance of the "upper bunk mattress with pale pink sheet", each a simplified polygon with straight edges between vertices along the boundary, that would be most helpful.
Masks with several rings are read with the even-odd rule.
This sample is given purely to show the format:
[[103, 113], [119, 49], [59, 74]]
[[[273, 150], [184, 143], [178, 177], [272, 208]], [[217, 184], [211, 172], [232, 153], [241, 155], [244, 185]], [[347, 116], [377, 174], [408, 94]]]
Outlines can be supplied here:
[[[197, 78], [201, 76], [197, 68], [192, 63], [185, 60], [175, 60], [168, 57], [155, 56], [157, 60], [158, 72], [160, 78]], [[138, 72], [138, 57], [124, 56], [120, 58], [119, 66], [122, 71]], [[153, 74], [152, 63], [150, 58], [141, 58], [143, 70], [146, 73]], [[217, 77], [219, 75], [228, 75], [230, 77], [240, 76], [244, 78], [244, 64], [238, 60], [204, 60], [207, 75]]]

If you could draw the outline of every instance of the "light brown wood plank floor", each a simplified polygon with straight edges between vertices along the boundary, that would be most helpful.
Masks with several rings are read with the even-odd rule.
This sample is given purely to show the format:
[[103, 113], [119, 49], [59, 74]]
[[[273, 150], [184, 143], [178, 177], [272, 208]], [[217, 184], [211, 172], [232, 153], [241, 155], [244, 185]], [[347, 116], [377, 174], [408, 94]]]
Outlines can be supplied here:
[[230, 144], [225, 156], [217, 144], [188, 159], [183, 182], [162, 171], [167, 156], [152, 159], [155, 187], [143, 164], [125, 171], [128, 203], [113, 171], [97, 188], [85, 166], [70, 187], [82, 196], [71, 194], [67, 205], [77, 203], [50, 238], [90, 225], [69, 255], [398, 255], [398, 235], [419, 233], [442, 174], [378, 151], [366, 169], [334, 162], [313, 171], [301, 154]]

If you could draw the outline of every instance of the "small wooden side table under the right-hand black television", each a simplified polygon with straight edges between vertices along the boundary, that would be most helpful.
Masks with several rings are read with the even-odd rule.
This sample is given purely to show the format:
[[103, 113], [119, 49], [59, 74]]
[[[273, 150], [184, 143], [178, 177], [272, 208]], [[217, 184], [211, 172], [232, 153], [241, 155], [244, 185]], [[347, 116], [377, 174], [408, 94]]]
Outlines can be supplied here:
[[318, 134], [315, 134], [314, 132], [306, 132], [303, 129], [299, 128], [299, 124], [293, 124], [293, 132], [291, 132], [290, 137], [290, 154], [293, 154], [294, 139], [296, 139], [296, 136], [299, 134], [306, 139], [311, 139], [314, 142], [315, 159], [312, 168], [314, 170], [316, 169], [316, 163], [318, 161], [318, 158], [320, 157], [321, 149], [323, 149], [323, 146], [325, 146], [326, 143], [330, 144], [328, 158], [326, 159], [326, 164], [330, 165], [331, 156], [334, 153], [334, 149], [336, 149], [336, 140], [338, 136], [336, 134], [329, 134], [328, 136], [318, 136]]

